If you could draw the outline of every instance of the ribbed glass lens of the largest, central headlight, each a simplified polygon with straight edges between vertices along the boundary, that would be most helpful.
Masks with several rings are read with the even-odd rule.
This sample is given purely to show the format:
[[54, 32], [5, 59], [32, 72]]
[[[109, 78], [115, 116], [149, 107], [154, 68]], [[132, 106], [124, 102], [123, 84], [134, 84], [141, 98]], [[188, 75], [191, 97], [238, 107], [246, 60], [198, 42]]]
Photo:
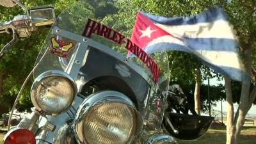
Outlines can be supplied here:
[[109, 103], [93, 107], [83, 121], [84, 139], [88, 143], [120, 144], [131, 140], [136, 116], [126, 104]]

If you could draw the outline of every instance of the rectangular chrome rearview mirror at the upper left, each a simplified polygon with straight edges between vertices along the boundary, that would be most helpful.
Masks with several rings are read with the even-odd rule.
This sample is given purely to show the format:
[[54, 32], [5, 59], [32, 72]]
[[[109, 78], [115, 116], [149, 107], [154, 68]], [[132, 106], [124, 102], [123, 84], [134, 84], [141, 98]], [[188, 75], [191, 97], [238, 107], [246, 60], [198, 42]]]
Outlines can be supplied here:
[[47, 26], [55, 22], [55, 12], [52, 6], [40, 6], [29, 10], [31, 22], [35, 26]]

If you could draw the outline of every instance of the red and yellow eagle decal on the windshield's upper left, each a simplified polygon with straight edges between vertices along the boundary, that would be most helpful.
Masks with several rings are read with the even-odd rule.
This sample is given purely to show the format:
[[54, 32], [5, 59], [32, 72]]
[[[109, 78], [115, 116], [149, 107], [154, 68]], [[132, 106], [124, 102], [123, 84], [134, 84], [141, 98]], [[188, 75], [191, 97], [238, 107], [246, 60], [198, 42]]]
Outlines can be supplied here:
[[50, 51], [62, 58], [67, 58], [67, 54], [72, 50], [73, 43], [72, 42], [65, 42], [63, 40], [56, 40], [55, 37], [51, 38], [51, 49]]

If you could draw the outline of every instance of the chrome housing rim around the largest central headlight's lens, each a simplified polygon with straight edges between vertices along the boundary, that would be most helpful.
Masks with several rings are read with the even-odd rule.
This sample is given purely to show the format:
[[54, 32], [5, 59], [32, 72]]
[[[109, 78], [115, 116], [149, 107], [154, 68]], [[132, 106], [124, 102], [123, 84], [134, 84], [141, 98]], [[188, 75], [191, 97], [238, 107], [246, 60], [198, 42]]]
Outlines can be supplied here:
[[[83, 138], [83, 116], [90, 111], [94, 106], [98, 106], [99, 104], [106, 104], [111, 102], [121, 102], [123, 104], [127, 104], [131, 106], [136, 112], [136, 129], [134, 136], [138, 135], [143, 127], [143, 120], [141, 118], [140, 113], [136, 111], [136, 107], [133, 102], [123, 93], [115, 92], [115, 91], [102, 91], [93, 93], [87, 99], [83, 101], [79, 109], [77, 110], [76, 117], [73, 123], [74, 135], [76, 137], [77, 143], [79, 144], [88, 144]], [[133, 138], [131, 138], [131, 141]], [[129, 141], [129, 143], [131, 143]], [[121, 143], [120, 143], [121, 144]]]

